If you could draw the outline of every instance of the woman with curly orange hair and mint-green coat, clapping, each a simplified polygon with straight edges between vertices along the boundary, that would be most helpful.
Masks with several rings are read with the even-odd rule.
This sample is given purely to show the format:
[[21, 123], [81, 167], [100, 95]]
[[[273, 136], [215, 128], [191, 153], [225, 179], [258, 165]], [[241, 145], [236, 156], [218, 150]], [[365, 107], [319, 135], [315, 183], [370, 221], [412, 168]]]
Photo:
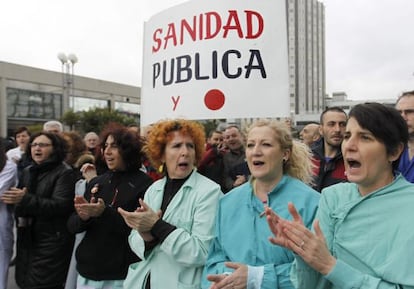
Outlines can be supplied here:
[[164, 120], [154, 124], [145, 151], [165, 176], [140, 200], [135, 212], [121, 208], [133, 228], [132, 250], [142, 259], [131, 264], [124, 288], [200, 288], [213, 238], [220, 186], [196, 171], [204, 151], [201, 124]]

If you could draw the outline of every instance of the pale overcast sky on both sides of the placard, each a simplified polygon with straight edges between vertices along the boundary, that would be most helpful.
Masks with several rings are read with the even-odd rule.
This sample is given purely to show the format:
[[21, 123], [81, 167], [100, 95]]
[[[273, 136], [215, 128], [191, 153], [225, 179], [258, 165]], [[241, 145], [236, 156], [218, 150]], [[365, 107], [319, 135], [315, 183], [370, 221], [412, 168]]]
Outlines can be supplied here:
[[[197, 1], [197, 0], [194, 0]], [[143, 22], [184, 0], [2, 0], [0, 61], [141, 85]], [[324, 0], [327, 93], [396, 98], [414, 90], [413, 0]]]

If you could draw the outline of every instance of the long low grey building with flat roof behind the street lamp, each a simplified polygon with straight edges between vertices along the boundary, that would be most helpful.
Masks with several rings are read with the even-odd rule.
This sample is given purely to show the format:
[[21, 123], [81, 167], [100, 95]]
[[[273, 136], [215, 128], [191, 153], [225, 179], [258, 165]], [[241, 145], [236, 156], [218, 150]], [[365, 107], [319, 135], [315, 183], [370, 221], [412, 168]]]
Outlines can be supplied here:
[[73, 76], [68, 90], [64, 75], [0, 61], [0, 135], [19, 126], [59, 120], [68, 110], [108, 107], [139, 118], [139, 87]]

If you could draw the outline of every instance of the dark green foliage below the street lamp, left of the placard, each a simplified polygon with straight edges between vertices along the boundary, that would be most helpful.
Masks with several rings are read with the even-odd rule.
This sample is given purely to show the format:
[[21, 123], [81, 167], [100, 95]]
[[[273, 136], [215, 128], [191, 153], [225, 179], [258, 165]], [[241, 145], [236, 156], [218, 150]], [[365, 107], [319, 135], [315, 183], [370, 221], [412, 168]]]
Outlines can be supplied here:
[[81, 133], [88, 131], [99, 133], [110, 122], [117, 122], [125, 126], [136, 124], [134, 118], [118, 111], [111, 111], [108, 108], [94, 108], [76, 113], [69, 110], [62, 116], [61, 121], [71, 130], [77, 130]]

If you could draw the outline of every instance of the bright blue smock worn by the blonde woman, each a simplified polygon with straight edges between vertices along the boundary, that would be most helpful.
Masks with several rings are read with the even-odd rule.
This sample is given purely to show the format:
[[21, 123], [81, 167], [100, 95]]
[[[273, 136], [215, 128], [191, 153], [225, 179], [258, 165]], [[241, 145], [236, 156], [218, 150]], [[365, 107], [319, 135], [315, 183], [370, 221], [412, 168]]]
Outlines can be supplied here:
[[[313, 221], [319, 198], [318, 192], [287, 175], [268, 197], [269, 206], [283, 218], [291, 219], [287, 208], [288, 202], [293, 202], [307, 226]], [[262, 267], [260, 288], [293, 288], [289, 278], [293, 254], [269, 242], [272, 233], [266, 218], [260, 216], [263, 210], [263, 203], [254, 195], [251, 182], [234, 188], [220, 200], [202, 288], [210, 288], [207, 274], [232, 271], [224, 262]]]

